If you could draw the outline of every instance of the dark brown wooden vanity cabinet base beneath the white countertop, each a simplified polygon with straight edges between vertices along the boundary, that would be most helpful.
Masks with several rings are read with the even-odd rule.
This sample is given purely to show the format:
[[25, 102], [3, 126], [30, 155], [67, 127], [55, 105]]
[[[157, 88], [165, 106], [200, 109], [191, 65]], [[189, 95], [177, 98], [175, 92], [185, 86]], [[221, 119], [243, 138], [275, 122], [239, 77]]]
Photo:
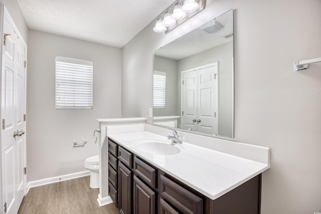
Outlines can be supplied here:
[[212, 200], [114, 141], [108, 142], [109, 194], [120, 213], [260, 213], [261, 174]]

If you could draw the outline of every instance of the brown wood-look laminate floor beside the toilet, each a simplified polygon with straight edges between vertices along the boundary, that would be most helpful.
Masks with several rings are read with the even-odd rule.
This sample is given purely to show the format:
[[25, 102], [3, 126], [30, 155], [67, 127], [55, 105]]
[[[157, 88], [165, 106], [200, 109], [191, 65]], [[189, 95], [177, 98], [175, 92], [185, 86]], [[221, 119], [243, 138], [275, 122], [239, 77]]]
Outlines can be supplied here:
[[119, 213], [114, 203], [99, 206], [98, 189], [89, 187], [89, 176], [34, 187], [24, 197], [19, 214]]

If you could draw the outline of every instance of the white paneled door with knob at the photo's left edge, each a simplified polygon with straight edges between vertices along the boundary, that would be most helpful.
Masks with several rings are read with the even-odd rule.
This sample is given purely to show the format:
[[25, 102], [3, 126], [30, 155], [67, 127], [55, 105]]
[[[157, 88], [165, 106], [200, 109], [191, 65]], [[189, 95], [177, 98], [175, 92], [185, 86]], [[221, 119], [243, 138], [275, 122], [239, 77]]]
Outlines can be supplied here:
[[[2, 189], [7, 213], [17, 213], [26, 188], [26, 45], [5, 10], [2, 43]], [[14, 135], [16, 133], [17, 135]]]

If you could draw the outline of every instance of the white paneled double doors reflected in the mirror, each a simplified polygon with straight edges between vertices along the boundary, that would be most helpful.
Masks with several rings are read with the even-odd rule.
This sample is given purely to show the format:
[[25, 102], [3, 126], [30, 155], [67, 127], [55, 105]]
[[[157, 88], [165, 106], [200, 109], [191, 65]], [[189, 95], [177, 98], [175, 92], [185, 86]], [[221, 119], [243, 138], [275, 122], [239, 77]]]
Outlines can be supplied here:
[[182, 72], [183, 129], [218, 132], [217, 62]]

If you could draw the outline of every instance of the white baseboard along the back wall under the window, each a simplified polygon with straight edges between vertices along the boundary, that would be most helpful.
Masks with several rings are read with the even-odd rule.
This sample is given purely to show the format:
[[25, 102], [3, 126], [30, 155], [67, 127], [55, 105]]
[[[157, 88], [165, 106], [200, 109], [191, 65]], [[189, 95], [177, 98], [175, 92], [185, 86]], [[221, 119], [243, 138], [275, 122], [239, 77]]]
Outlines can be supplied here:
[[45, 179], [30, 181], [27, 183], [27, 193], [29, 192], [30, 188], [33, 188], [36, 186], [43, 186], [43, 185], [47, 185], [50, 183], [57, 183], [60, 181], [71, 180], [71, 179], [75, 179], [75, 178], [79, 178], [79, 177], [85, 177], [88, 175], [90, 175], [90, 171], [86, 170], [86, 171], [76, 172], [76, 173], [72, 173], [72, 174], [65, 174], [65, 175], [61, 175], [61, 176], [57, 176], [57, 177], [49, 177], [49, 178], [45, 178]]

